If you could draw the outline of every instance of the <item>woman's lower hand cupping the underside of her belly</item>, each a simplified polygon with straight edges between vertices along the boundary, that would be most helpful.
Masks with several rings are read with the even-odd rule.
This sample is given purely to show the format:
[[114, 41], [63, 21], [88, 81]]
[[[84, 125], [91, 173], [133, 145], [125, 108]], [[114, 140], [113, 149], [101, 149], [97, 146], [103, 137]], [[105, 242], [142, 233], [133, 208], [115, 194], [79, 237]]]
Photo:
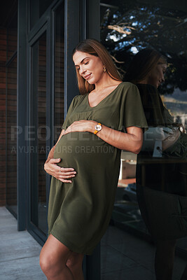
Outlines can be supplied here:
[[76, 176], [74, 168], [60, 167], [57, 165], [60, 161], [60, 158], [51, 158], [44, 165], [45, 171], [63, 183], [72, 183], [69, 179]]

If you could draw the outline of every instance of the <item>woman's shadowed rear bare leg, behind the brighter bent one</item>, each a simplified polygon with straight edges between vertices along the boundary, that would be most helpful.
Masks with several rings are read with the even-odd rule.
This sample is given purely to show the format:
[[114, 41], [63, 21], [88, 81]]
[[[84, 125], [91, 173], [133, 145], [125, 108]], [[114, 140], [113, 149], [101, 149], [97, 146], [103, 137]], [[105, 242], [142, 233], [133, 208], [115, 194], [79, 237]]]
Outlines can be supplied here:
[[71, 253], [70, 257], [67, 260], [67, 267], [71, 270], [71, 273], [74, 275], [75, 280], [84, 280], [83, 276], [83, 254], [80, 253]]

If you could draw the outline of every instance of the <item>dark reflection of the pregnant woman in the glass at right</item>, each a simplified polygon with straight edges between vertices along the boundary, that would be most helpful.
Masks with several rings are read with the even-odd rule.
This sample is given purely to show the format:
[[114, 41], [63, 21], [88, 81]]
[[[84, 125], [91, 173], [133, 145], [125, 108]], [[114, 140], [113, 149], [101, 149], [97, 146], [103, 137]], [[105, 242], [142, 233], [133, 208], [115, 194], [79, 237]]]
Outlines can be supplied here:
[[[125, 80], [135, 83], [139, 88], [148, 127], [155, 127], [155, 130], [158, 130], [158, 127], [168, 127], [173, 123], [172, 116], [163, 106], [157, 90], [165, 80], [166, 69], [165, 57], [155, 50], [144, 49], [134, 56], [125, 75]], [[171, 137], [172, 141], [177, 141], [180, 134], [177, 126]], [[168, 139], [162, 141], [161, 149], [162, 151], [166, 149], [166, 155], [172, 141]], [[152, 155], [153, 151], [149, 151], [146, 145], [144, 151], [138, 155], [137, 197], [141, 215], [155, 239], [156, 279], [171, 280], [176, 238], [187, 235], [183, 213], [186, 211], [187, 202], [186, 197], [183, 197], [186, 195], [186, 180], [183, 179], [180, 172], [181, 164], [178, 165], [177, 160], [171, 161], [167, 158], [170, 160], [168, 163], [167, 160], [158, 158], [157, 163]], [[145, 162], [148, 164], [146, 165]]]

